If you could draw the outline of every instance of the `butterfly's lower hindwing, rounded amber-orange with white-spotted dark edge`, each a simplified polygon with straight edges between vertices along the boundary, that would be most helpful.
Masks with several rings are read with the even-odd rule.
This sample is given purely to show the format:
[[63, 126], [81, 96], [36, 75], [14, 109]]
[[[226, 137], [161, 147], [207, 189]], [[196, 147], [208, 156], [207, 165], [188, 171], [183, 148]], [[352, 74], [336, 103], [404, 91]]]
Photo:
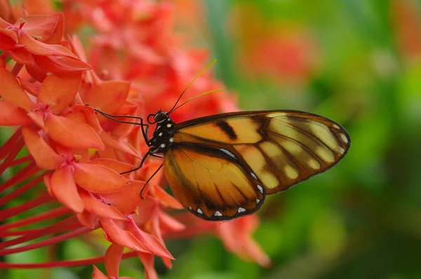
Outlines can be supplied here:
[[260, 208], [265, 189], [231, 151], [203, 142], [180, 142], [177, 137], [163, 165], [175, 197], [190, 212], [215, 221]]

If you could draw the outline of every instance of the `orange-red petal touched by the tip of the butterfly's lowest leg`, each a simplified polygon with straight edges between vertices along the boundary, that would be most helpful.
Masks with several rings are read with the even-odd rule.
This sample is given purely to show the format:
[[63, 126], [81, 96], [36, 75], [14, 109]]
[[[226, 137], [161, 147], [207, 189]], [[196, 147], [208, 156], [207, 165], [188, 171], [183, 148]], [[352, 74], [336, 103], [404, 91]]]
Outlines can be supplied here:
[[[139, 205], [142, 201], [142, 198], [140, 198], [140, 191], [142, 191], [143, 186], [145, 186], [145, 182], [138, 180], [129, 180], [128, 182], [130, 185], [121, 191], [102, 195], [102, 197], [107, 200], [107, 203], [111, 203], [112, 206], [116, 207], [116, 209], [123, 214], [130, 214]], [[145, 196], [146, 193], [147, 189], [143, 191]]]

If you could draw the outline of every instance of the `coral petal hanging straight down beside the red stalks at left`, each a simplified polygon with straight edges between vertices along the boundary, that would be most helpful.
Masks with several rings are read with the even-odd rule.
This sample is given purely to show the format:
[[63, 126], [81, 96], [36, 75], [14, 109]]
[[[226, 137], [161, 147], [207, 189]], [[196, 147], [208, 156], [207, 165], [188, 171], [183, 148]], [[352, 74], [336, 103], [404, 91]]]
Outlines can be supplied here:
[[55, 170], [51, 176], [51, 193], [60, 203], [81, 213], [85, 207], [74, 183], [72, 167], [66, 165]]

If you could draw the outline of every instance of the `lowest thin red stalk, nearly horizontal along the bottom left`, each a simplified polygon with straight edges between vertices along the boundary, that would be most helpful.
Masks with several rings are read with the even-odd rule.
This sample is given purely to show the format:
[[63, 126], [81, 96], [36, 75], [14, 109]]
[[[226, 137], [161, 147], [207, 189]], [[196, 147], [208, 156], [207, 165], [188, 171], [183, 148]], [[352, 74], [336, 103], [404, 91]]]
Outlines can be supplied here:
[[[138, 252], [126, 252], [123, 254], [123, 259], [137, 257]], [[99, 256], [90, 259], [67, 260], [67, 261], [48, 261], [45, 263], [36, 264], [12, 264], [7, 262], [0, 262], [0, 268], [51, 268], [51, 267], [71, 267], [71, 266], [88, 266], [91, 264], [100, 264], [104, 262], [105, 256]]]

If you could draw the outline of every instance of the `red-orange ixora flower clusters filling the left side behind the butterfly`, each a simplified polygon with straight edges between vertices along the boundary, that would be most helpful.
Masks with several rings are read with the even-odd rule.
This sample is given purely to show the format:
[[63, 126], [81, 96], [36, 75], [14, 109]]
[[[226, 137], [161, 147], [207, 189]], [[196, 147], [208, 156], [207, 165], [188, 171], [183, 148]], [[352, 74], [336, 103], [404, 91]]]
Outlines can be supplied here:
[[[44, 6], [38, 10], [29, 3], [23, 9], [0, 2], [8, 7], [0, 18], [0, 125], [2, 133], [11, 134], [0, 147], [0, 174], [5, 177], [0, 186], [0, 237], [4, 239], [0, 256], [92, 235], [95, 230], [109, 241], [105, 254], [95, 258], [2, 261], [0, 268], [105, 262], [107, 275], [94, 266], [93, 278], [124, 278], [119, 277], [121, 259], [138, 257], [147, 278], [157, 278], [154, 257], [161, 257], [168, 268], [174, 259], [164, 240], [199, 233], [213, 233], [239, 257], [269, 265], [251, 238], [258, 217], [216, 224], [187, 212], [174, 214], [182, 206], [163, 189], [161, 172], [144, 189], [160, 162], [147, 161], [140, 170], [128, 172], [147, 150], [140, 126], [117, 123], [93, 109], [139, 117], [166, 109], [203, 67], [205, 51], [164, 43], [176, 41], [168, 20], [170, 5], [65, 1], [64, 13], [51, 13], [52, 8], [41, 0], [37, 2]], [[74, 8], [70, 11], [67, 5]], [[34, 14], [41, 13], [40, 8], [48, 15]], [[95, 29], [89, 55], [76, 35], [65, 36], [67, 18], [66, 26], [74, 32], [81, 22]], [[218, 81], [204, 74], [187, 95], [218, 87]], [[196, 109], [189, 105], [173, 118], [182, 121], [235, 108], [232, 97], [223, 93], [198, 99]], [[22, 156], [25, 151], [29, 154]], [[142, 189], [145, 199], [139, 194]], [[32, 190], [35, 198], [21, 197]], [[22, 217], [38, 208], [44, 212]], [[25, 229], [28, 225], [35, 229]]]

